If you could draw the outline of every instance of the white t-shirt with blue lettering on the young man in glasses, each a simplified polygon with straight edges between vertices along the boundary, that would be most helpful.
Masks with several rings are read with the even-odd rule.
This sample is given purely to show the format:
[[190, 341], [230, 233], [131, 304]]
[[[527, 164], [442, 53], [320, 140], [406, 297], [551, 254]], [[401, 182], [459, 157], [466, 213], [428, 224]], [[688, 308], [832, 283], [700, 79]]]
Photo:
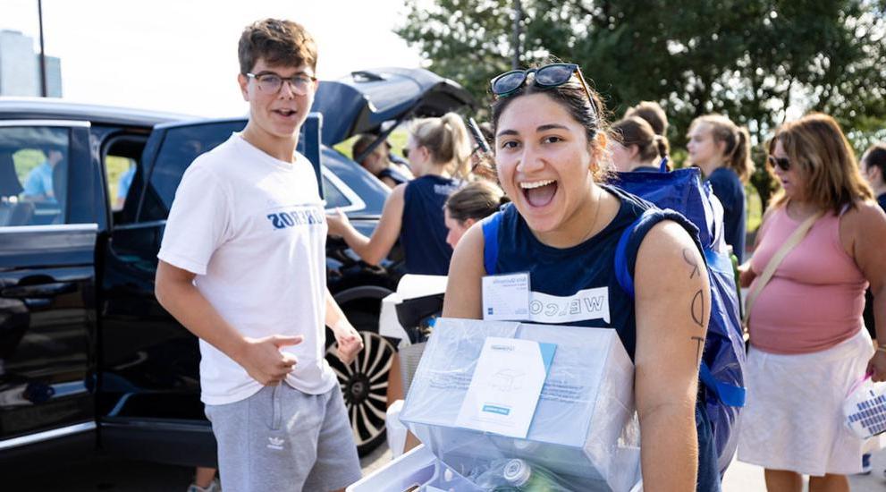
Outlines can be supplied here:
[[[308, 159], [267, 155], [239, 133], [194, 160], [175, 191], [157, 258], [197, 274], [222, 318], [251, 337], [304, 335], [286, 382], [308, 394], [337, 384], [325, 354], [323, 200]], [[261, 385], [200, 340], [201, 400], [240, 401]]]

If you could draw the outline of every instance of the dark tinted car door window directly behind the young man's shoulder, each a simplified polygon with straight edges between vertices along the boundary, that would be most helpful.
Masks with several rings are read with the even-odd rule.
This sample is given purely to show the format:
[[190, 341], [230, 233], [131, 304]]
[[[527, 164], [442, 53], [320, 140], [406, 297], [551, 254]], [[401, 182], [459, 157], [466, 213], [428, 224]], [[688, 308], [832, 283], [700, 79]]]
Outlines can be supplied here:
[[245, 121], [207, 123], [166, 130], [151, 171], [139, 221], [165, 219], [173, 206], [175, 189], [190, 163], [200, 154], [221, 145], [231, 137], [232, 132], [242, 130], [245, 124]]

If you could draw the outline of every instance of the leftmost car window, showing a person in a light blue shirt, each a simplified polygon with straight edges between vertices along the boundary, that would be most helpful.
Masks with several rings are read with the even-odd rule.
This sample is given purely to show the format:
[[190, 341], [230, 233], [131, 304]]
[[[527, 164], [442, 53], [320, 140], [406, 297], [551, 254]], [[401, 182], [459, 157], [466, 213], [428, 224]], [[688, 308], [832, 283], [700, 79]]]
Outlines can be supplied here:
[[0, 127], [0, 226], [64, 224], [71, 131]]

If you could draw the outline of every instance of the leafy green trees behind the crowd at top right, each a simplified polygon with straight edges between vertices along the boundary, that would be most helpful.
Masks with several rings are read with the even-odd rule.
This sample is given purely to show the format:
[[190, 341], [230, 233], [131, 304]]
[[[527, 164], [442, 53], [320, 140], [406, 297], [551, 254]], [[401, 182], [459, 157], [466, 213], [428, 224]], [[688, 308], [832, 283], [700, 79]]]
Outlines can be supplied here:
[[[580, 64], [613, 117], [659, 102], [675, 150], [689, 123], [713, 112], [747, 125], [757, 144], [807, 111], [834, 116], [856, 150], [883, 136], [882, 0], [523, 0], [522, 8], [523, 64]], [[511, 0], [408, 0], [407, 12], [398, 34], [431, 70], [489, 102], [488, 81], [510, 69]], [[755, 152], [752, 182], [765, 203], [772, 180], [763, 156]]]

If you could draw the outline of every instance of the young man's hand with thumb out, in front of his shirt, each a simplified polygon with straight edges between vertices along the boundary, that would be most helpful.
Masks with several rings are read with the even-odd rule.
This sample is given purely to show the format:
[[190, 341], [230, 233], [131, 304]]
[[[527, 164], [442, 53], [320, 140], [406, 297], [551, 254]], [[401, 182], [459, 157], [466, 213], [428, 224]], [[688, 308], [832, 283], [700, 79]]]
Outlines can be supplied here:
[[236, 362], [264, 386], [280, 384], [292, 372], [298, 359], [291, 353], [280, 352], [280, 347], [298, 345], [304, 336], [272, 335], [262, 338], [245, 338], [246, 344]]

